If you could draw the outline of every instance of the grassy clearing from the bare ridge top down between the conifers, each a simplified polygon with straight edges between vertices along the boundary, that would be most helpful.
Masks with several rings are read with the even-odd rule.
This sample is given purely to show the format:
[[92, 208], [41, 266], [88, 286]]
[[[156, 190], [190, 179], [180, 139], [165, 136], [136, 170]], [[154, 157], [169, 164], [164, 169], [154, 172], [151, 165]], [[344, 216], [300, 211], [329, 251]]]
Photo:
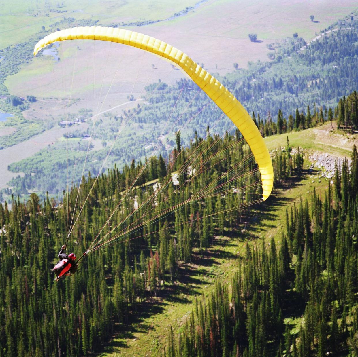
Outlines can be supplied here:
[[[350, 157], [353, 145], [357, 145], [355, 139], [347, 139], [344, 133], [330, 129], [330, 126], [327, 123], [318, 128], [290, 133], [290, 145], [300, 146], [305, 151], [306, 171], [302, 179], [276, 189], [267, 202], [254, 206], [252, 219], [246, 222], [240, 236], [217, 236], [207, 254], [201, 256], [197, 253], [192, 264], [183, 265], [181, 270], [185, 275], [173, 291], [169, 295], [153, 297], [130, 328], [118, 326], [120, 332], [100, 356], [160, 356], [160, 350], [168, 342], [170, 326], [176, 335], [195, 308], [195, 299], [210, 297], [217, 279], [231, 282], [238, 270], [237, 258], [244, 256], [247, 244], [251, 246], [265, 241], [266, 246], [274, 237], [277, 246], [280, 246], [281, 234], [286, 232], [286, 209], [293, 204], [298, 206], [301, 199], [310, 199], [313, 190], [320, 195], [328, 189], [328, 179], [321, 178], [321, 170], [307, 170], [311, 165], [309, 153]], [[285, 147], [286, 139], [285, 134], [265, 138], [265, 141], [270, 150], [274, 150], [278, 146]], [[295, 321], [287, 319], [290, 329], [296, 328]]]

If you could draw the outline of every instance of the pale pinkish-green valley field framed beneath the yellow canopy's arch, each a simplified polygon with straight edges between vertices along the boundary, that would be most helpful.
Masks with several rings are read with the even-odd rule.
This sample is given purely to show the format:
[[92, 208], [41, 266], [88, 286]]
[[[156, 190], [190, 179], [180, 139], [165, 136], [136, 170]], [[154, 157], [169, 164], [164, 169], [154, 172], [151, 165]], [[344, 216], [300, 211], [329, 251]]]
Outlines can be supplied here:
[[59, 57], [58, 63], [50, 56], [35, 57], [6, 79], [6, 87], [20, 97], [29, 93], [39, 98], [71, 95], [98, 102], [112, 86], [106, 102], [112, 99], [113, 105], [118, 105], [127, 101], [132, 91], [139, 95], [146, 84], [159, 78], [173, 83], [183, 77], [179, 70], [150, 53], [109, 42], [64, 41], [59, 46]]

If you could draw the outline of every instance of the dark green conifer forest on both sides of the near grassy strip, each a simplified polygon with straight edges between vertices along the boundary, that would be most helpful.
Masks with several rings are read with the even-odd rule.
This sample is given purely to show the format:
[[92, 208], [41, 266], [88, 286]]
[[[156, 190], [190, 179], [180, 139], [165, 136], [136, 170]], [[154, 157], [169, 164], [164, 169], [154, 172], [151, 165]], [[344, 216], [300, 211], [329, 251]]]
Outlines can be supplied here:
[[[339, 108], [335, 112], [341, 115]], [[306, 175], [300, 149], [292, 149], [287, 141], [275, 151], [276, 187], [289, 187]], [[76, 189], [65, 192], [58, 203], [32, 194], [27, 202], [13, 197], [10, 210], [6, 202], [1, 204], [1, 356], [86, 356], [100, 351], [116, 324], [130, 324], [147, 299], [180, 279], [180, 265], [193, 254], [205, 255], [215, 235], [234, 235], [242, 228], [260, 191], [253, 185], [257, 172], [248, 150], [238, 131], [222, 137], [208, 132], [188, 148], [181, 146], [178, 132], [175, 161], [165, 164], [161, 156], [147, 166], [133, 161], [122, 171], [109, 170], [95, 185], [95, 178], [86, 177], [79, 195], [82, 218], [73, 226], [68, 249], [78, 256], [86, 251], [137, 177], [136, 187], [102, 234], [123, 222], [127, 229], [113, 231], [108, 244], [97, 245], [74, 276], [58, 283], [54, 257], [66, 240], [67, 219], [76, 220], [76, 215], [69, 216]], [[157, 188], [155, 195], [147, 182], [161, 182], [163, 189]], [[208, 189], [213, 182], [214, 189]], [[179, 334], [169, 332], [162, 355], [356, 353], [357, 191], [354, 148], [350, 164], [336, 166], [323, 195], [312, 191], [286, 210], [285, 232], [278, 240], [246, 244], [231, 283], [218, 280], [209, 298], [197, 298]], [[89, 204], [84, 202], [87, 195]], [[287, 316], [303, 316], [304, 324], [292, 333], [285, 328]]]

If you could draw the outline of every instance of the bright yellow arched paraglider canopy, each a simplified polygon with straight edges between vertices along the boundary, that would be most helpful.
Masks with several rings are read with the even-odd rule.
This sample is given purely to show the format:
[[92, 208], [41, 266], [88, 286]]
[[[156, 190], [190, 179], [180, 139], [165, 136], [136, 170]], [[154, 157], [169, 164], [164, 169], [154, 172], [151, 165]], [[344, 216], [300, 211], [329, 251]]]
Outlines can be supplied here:
[[261, 173], [262, 199], [265, 201], [270, 196], [274, 171], [269, 151], [257, 126], [234, 95], [188, 55], [154, 37], [130, 30], [102, 26], [75, 27], [54, 32], [45, 36], [36, 44], [34, 55], [37, 55], [40, 49], [53, 42], [77, 39], [110, 41], [137, 47], [168, 59], [182, 68], [240, 130], [251, 148]]

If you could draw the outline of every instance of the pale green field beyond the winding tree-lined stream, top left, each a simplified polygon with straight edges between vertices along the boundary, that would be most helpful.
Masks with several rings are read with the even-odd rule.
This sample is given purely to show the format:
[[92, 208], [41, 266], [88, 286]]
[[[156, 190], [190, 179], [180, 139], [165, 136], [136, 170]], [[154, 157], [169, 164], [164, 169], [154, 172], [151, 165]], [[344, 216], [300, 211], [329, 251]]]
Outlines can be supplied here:
[[[133, 22], [166, 19], [174, 13], [195, 5], [195, 0], [64, 0], [64, 1], [2, 1], [0, 3], [0, 48], [22, 42], [41, 31], [42, 26], [61, 21], [64, 17], [76, 20], [103, 22]], [[60, 5], [60, 6], [58, 6]]]

